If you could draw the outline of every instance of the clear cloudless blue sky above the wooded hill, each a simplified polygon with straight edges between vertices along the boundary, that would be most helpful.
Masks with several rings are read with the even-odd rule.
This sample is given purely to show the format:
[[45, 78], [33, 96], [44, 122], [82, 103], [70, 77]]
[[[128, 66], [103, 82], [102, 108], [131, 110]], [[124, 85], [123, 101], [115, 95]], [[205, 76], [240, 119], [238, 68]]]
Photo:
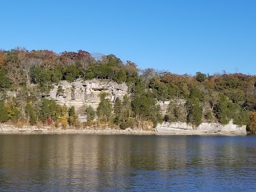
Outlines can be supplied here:
[[0, 49], [115, 54], [176, 74], [256, 74], [255, 0], [1, 1]]

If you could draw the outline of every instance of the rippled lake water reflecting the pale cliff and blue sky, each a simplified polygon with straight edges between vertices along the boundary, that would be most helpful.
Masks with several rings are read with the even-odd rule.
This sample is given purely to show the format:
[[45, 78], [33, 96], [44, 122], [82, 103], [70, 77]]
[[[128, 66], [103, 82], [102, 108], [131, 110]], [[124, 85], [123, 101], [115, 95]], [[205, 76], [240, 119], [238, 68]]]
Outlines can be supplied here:
[[255, 136], [0, 134], [0, 191], [256, 191]]

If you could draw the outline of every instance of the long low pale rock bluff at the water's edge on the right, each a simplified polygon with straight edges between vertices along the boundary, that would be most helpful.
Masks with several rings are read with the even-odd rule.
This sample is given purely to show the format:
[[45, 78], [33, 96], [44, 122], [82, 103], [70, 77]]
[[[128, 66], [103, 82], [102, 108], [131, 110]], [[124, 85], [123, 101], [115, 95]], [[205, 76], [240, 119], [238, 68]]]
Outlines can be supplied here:
[[246, 134], [246, 125], [239, 127], [233, 124], [231, 120], [227, 125], [216, 123], [202, 123], [198, 127], [192, 127], [189, 124], [177, 123], [163, 123], [156, 127], [157, 132], [170, 132], [170, 131], [201, 131], [201, 132], [236, 132], [239, 134]]

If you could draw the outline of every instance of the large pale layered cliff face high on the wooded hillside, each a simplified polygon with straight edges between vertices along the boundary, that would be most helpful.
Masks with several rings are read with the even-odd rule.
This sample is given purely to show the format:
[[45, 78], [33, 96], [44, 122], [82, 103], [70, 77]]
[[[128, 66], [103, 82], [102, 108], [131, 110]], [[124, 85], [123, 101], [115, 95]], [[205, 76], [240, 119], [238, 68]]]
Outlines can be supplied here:
[[128, 87], [125, 83], [118, 84], [109, 80], [92, 79], [83, 81], [77, 79], [72, 83], [60, 81], [58, 86], [49, 93], [48, 97], [56, 100], [58, 104], [66, 104], [67, 107], [74, 106], [79, 109], [83, 104], [88, 104], [97, 109], [99, 106], [99, 93], [109, 93], [108, 99], [114, 102], [117, 97], [121, 100], [127, 94]]

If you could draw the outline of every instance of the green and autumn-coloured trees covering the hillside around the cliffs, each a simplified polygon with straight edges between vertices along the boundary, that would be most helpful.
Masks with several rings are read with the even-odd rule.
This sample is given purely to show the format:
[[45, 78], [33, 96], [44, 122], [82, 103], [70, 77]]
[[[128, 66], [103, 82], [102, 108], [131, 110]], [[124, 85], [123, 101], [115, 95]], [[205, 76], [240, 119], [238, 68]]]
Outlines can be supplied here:
[[[83, 106], [80, 111], [42, 98], [61, 80], [111, 79], [127, 83], [129, 94], [112, 105], [106, 93], [100, 95], [97, 111]], [[170, 100], [165, 115], [159, 102]], [[153, 68], [140, 70], [132, 61], [114, 54], [90, 54], [26, 49], [0, 51], [0, 122], [56, 127], [76, 126], [77, 115], [88, 117], [86, 125], [104, 123], [125, 129], [159, 122], [220, 122], [248, 125], [256, 130], [256, 76], [245, 74], [178, 75]], [[96, 117], [96, 118], [95, 118]]]

